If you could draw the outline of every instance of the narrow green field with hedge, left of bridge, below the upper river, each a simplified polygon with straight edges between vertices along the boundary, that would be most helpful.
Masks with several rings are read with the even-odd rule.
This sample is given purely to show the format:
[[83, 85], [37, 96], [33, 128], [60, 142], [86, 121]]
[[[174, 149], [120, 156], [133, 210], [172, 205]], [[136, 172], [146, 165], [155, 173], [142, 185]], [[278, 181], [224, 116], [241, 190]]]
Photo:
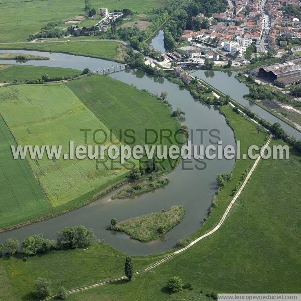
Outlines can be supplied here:
[[79, 75], [81, 71], [68, 68], [53, 68], [44, 66], [22, 66], [22, 65], [8, 65], [8, 68], [0, 69], [0, 82], [13, 82], [17, 79], [18, 82], [27, 80], [34, 80], [41, 78], [43, 74], [47, 73], [50, 77], [69, 77]]

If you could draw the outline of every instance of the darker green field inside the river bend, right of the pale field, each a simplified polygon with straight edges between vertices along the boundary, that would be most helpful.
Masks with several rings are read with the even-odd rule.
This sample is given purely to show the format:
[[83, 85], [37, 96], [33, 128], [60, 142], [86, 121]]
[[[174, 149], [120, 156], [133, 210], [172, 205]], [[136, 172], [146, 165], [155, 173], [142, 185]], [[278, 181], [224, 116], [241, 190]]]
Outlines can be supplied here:
[[[154, 99], [152, 94], [134, 89], [110, 77], [93, 75], [68, 82], [66, 85], [101, 122], [112, 129], [123, 144], [127, 141], [132, 142], [132, 146], [147, 144], [145, 129], [148, 129], [156, 131], [159, 138], [153, 144], [160, 145], [160, 130], [169, 129], [175, 133], [180, 127], [177, 119], [170, 116], [171, 110], [164, 107], [160, 100]], [[127, 129], [134, 131], [128, 132], [128, 135], [134, 136], [135, 141], [125, 136], [124, 131]], [[154, 138], [154, 134], [149, 131], [149, 141]], [[178, 139], [180, 138], [178, 136]], [[164, 138], [163, 144], [177, 144], [174, 135], [170, 139], [172, 143]], [[171, 164], [166, 160], [163, 164], [167, 170], [171, 169]]]

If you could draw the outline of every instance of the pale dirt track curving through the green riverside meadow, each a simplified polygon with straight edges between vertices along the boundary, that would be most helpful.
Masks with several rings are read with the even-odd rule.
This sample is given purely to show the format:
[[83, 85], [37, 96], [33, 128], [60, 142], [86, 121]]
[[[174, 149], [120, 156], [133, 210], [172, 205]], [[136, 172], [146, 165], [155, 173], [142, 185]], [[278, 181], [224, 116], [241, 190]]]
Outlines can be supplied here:
[[[190, 247], [192, 247], [194, 244], [196, 244], [197, 242], [199, 242], [200, 240], [204, 239], [205, 237], [208, 237], [210, 235], [212, 235], [214, 232], [216, 232], [221, 226], [222, 224], [224, 223], [225, 219], [227, 218], [231, 208], [233, 207], [235, 201], [237, 200], [237, 198], [239, 197], [239, 195], [241, 194], [241, 192], [243, 191], [243, 189], [245, 188], [245, 186], [247, 185], [247, 182], [248, 180], [250, 179], [252, 173], [254, 172], [256, 166], [258, 165], [260, 159], [261, 159], [261, 155], [264, 153], [266, 147], [268, 146], [268, 144], [270, 143], [271, 139], [272, 139], [272, 135], [270, 136], [270, 138], [268, 139], [268, 141], [266, 142], [266, 144], [264, 145], [264, 147], [261, 149], [261, 153], [260, 153], [260, 156], [258, 156], [258, 158], [256, 159], [256, 161], [254, 162], [253, 166], [251, 167], [249, 173], [247, 174], [243, 184], [241, 185], [241, 187], [239, 188], [239, 190], [236, 192], [235, 196], [233, 197], [232, 201], [230, 202], [230, 204], [228, 205], [226, 211], [224, 212], [222, 218], [220, 219], [219, 223], [212, 229], [210, 230], [209, 232], [203, 234], [202, 236], [198, 237], [197, 239], [193, 240], [189, 245], [187, 245], [186, 247], [180, 249], [180, 250], [177, 250], [169, 255], [167, 255], [166, 257], [164, 257], [163, 259], [159, 260], [158, 262], [138, 271], [138, 272], [135, 272], [134, 275], [138, 275], [138, 274], [141, 274], [143, 272], [147, 272], [153, 268], [155, 268], [156, 266], [166, 262], [168, 259], [184, 252], [185, 250], [189, 249]], [[103, 281], [103, 282], [99, 282], [99, 283], [96, 283], [96, 284], [93, 284], [93, 285], [88, 285], [88, 286], [85, 286], [85, 287], [81, 287], [81, 288], [77, 288], [77, 289], [71, 289], [71, 290], [68, 290], [67, 293], [68, 294], [72, 294], [72, 293], [76, 293], [76, 292], [80, 292], [80, 291], [84, 291], [84, 290], [87, 290], [87, 289], [90, 289], [90, 288], [93, 288], [93, 287], [98, 287], [98, 286], [102, 286], [102, 285], [105, 285], [105, 284], [109, 284], [109, 283], [113, 283], [113, 282], [117, 282], [117, 281], [120, 281], [122, 279], [125, 279], [127, 278], [126, 276], [120, 276], [118, 278], [115, 278], [115, 279], [111, 279], [111, 280], [107, 280], [107, 281]], [[53, 295], [51, 297], [48, 297], [46, 299], [43, 299], [43, 300], [50, 300], [52, 298], [55, 298], [57, 297], [57, 295]]]

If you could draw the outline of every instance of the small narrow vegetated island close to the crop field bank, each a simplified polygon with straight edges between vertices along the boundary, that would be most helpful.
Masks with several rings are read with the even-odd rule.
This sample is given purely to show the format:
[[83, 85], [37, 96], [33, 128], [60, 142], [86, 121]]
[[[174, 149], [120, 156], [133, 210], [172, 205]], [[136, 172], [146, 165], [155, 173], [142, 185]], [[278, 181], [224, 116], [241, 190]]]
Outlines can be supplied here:
[[157, 178], [154, 180], [144, 181], [143, 183], [136, 183], [129, 188], [120, 190], [112, 196], [112, 199], [125, 199], [137, 196], [156, 188], [163, 187], [170, 182], [169, 178]]

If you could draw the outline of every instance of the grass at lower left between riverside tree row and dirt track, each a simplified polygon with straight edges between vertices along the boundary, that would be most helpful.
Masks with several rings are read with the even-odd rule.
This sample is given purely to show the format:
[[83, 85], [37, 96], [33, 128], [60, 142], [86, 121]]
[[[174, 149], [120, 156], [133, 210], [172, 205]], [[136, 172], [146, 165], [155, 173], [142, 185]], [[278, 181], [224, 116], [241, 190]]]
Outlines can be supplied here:
[[[133, 257], [132, 262], [138, 270], [162, 257]], [[36, 300], [32, 292], [38, 277], [52, 282], [53, 294], [62, 285], [71, 289], [117, 277], [124, 262], [125, 254], [105, 243], [93, 243], [86, 250], [51, 251], [28, 257], [27, 262], [16, 257], [0, 259], [0, 300]]]

